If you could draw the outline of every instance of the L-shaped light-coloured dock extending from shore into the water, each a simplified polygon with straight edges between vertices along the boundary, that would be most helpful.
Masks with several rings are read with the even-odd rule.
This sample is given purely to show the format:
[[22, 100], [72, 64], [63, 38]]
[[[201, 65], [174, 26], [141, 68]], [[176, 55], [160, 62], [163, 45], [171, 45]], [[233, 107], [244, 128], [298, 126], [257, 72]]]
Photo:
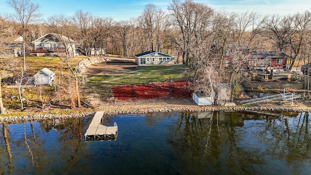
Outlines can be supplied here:
[[114, 126], [105, 126], [102, 124], [104, 118], [104, 111], [97, 111], [93, 117], [93, 120], [89, 124], [86, 133], [86, 141], [103, 141], [103, 140], [116, 140], [118, 136], [118, 125], [114, 123]]

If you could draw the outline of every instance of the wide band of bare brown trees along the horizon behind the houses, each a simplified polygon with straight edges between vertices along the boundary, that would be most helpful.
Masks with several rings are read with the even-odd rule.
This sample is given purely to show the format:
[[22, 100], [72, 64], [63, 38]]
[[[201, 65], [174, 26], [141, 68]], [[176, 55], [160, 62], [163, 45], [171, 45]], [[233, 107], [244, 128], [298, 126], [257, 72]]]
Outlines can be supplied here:
[[[69, 17], [59, 14], [42, 21], [39, 4], [30, 0], [6, 2], [15, 10], [11, 18], [5, 18], [11, 22], [7, 29], [11, 35], [29, 37], [25, 42], [46, 33], [65, 35], [89, 56], [92, 48], [105, 48], [107, 53], [125, 57], [154, 50], [176, 55], [184, 64], [190, 64], [200, 43], [212, 43], [213, 48], [206, 49], [217, 49], [222, 54], [238, 42], [253, 50], [284, 52], [295, 62], [310, 42], [310, 11], [261, 16], [215, 10], [192, 0], [172, 0], [166, 11], [149, 3], [138, 18], [129, 20], [115, 21], [77, 10]], [[1, 25], [2, 33], [5, 27]]]

